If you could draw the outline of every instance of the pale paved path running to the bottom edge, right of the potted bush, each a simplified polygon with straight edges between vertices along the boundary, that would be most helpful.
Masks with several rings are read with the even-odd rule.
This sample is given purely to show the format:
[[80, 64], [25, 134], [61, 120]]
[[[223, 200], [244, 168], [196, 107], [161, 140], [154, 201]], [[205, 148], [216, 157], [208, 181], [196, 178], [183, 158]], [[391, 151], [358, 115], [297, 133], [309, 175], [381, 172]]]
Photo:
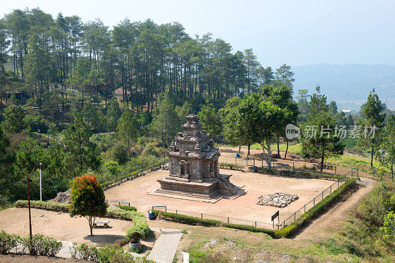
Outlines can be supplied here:
[[[153, 229], [159, 231], [159, 229]], [[178, 229], [160, 229], [162, 232], [151, 250], [149, 258], [163, 263], [172, 263], [180, 242], [182, 231]]]

